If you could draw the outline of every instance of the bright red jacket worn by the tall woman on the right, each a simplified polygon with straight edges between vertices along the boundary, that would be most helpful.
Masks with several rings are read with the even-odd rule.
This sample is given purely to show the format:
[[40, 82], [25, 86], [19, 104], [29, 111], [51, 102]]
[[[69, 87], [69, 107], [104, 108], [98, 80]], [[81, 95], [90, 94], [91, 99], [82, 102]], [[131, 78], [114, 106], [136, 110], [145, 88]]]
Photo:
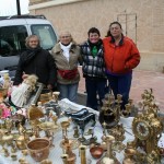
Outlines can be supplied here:
[[140, 54], [134, 43], [122, 36], [119, 46], [112, 43], [112, 37], [103, 39], [106, 69], [112, 73], [124, 74], [131, 71], [140, 62]]

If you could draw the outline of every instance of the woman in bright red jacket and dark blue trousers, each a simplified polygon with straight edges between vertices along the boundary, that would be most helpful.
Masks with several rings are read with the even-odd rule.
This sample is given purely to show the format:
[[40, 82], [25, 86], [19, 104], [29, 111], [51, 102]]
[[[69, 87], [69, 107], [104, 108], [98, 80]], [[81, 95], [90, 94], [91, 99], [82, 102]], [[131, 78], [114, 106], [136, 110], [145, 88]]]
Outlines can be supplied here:
[[107, 37], [103, 39], [106, 73], [115, 97], [122, 95], [121, 109], [129, 99], [132, 69], [140, 62], [140, 54], [134, 43], [122, 35], [119, 22], [109, 25]]

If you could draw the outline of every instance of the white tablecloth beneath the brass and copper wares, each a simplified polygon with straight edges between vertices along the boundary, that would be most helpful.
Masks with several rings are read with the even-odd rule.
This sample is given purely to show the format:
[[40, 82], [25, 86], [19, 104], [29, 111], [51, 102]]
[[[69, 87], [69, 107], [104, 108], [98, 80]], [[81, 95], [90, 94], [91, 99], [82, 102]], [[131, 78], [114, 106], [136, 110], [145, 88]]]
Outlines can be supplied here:
[[[59, 104], [61, 105], [61, 108], [71, 108], [73, 110], [80, 110], [81, 108], [84, 108], [85, 106], [82, 106], [82, 105], [78, 105], [75, 103], [71, 103], [69, 102], [68, 99], [62, 99], [61, 102], [59, 102]], [[96, 116], [98, 117], [98, 112], [95, 112], [91, 108], [87, 108], [90, 112], [92, 113], [95, 113]], [[63, 120], [67, 120], [68, 118], [60, 118], [58, 120], [58, 124], [59, 121], [63, 121]], [[129, 117], [129, 118], [120, 118], [120, 124], [124, 125], [125, 129], [126, 129], [126, 139], [124, 140], [124, 143], [126, 143], [127, 141], [129, 140], [133, 140], [134, 137], [132, 134], [132, 131], [131, 131], [131, 122], [132, 122], [132, 117]], [[85, 128], [85, 130], [87, 130], [87, 127]], [[101, 137], [103, 136], [103, 130], [102, 130], [102, 126], [99, 125], [99, 122], [97, 121], [96, 122], [96, 126], [95, 126], [95, 129], [94, 129], [94, 134], [97, 137], [97, 140], [101, 142]], [[44, 136], [43, 136], [44, 137]], [[91, 136], [89, 136], [90, 138]], [[70, 128], [68, 129], [68, 138], [73, 138], [73, 125], [70, 126]], [[60, 148], [60, 142], [61, 142], [61, 139], [62, 139], [62, 132], [59, 131], [55, 134], [55, 139], [54, 139], [54, 144], [55, 144], [55, 148], [50, 149], [50, 153], [49, 153], [49, 160], [52, 161], [52, 164], [62, 164], [62, 160], [61, 160], [61, 154], [62, 154], [62, 149]], [[164, 133], [162, 134], [162, 138], [159, 142], [159, 145], [160, 147], [164, 147]], [[73, 150], [73, 153], [77, 154], [77, 164], [80, 164], [80, 156], [79, 156], [79, 150], [75, 149]], [[22, 153], [21, 151], [17, 151], [17, 160], [20, 157], [22, 157]], [[124, 160], [124, 151], [121, 151], [120, 153], [116, 153], [116, 156], [117, 159], [120, 161], [120, 163], [122, 163], [122, 160]], [[91, 159], [92, 162], [91, 164], [96, 164], [97, 160], [94, 160], [91, 154], [90, 154], [90, 150], [87, 149], [86, 150], [86, 159]], [[38, 164], [37, 162], [35, 162], [30, 155], [26, 156], [26, 160], [30, 164]], [[0, 164], [19, 164], [17, 161], [13, 162], [11, 160], [11, 157], [4, 157], [3, 155], [0, 154]], [[162, 164], [164, 164], [164, 162], [162, 162]]]

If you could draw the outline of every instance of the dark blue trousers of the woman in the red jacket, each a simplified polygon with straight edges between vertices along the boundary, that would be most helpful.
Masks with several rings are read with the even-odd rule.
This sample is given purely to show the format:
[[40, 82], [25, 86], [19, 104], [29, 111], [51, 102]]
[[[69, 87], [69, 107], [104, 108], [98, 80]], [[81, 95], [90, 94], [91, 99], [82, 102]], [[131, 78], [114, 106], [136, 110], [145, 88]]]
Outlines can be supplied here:
[[124, 75], [112, 75], [107, 74], [109, 86], [114, 92], [115, 98], [117, 94], [122, 95], [122, 104], [121, 109], [125, 109], [125, 105], [128, 103], [129, 99], [129, 92], [131, 87], [131, 80], [132, 80], [132, 72]]

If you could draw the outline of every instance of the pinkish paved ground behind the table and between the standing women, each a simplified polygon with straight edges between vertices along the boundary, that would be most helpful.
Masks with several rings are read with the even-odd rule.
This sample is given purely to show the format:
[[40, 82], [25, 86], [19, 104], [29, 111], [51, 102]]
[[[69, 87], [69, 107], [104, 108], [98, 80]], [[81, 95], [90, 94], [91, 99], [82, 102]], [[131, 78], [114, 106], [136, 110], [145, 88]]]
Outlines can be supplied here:
[[[81, 68], [79, 68], [81, 72]], [[150, 71], [133, 71], [132, 85], [130, 91], [130, 98], [133, 99], [134, 104], [141, 101], [141, 94], [144, 90], [153, 89], [153, 95], [156, 102], [160, 103], [160, 110], [164, 113], [164, 73], [150, 72]], [[79, 84], [79, 93], [84, 93], [85, 81], [82, 78]]]

